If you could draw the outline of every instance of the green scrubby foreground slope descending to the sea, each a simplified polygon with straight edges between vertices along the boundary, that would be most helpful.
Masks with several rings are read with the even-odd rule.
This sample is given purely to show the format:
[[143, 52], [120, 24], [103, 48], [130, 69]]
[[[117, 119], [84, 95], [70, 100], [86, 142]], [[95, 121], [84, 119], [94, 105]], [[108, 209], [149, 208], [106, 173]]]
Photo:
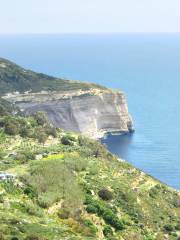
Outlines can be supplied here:
[[[0, 118], [0, 239], [180, 238], [180, 195], [42, 113]], [[15, 129], [15, 130], [14, 130]]]

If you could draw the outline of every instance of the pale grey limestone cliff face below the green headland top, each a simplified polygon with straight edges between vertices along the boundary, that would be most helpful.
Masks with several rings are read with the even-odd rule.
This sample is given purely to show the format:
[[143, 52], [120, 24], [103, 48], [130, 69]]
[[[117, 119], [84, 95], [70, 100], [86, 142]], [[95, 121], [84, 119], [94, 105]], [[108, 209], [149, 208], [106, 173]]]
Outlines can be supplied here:
[[50, 122], [67, 131], [100, 138], [105, 133], [133, 129], [126, 99], [121, 92], [92, 89], [79, 92], [40, 92], [7, 95], [26, 114], [47, 113]]

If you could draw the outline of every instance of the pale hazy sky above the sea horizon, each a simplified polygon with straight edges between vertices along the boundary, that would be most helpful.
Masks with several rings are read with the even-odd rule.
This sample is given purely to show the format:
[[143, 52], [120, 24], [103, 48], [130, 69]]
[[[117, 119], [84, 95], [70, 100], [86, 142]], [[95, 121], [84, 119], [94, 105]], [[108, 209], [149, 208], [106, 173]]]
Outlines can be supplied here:
[[180, 0], [0, 0], [0, 34], [180, 32]]

